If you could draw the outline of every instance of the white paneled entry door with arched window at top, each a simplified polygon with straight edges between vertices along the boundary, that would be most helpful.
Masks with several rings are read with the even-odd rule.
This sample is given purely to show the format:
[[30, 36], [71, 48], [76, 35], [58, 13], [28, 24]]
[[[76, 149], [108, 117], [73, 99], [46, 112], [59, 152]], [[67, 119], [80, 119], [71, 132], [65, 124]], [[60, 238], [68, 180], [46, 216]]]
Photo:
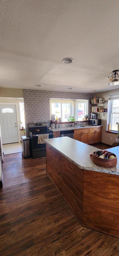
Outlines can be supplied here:
[[0, 105], [2, 143], [18, 142], [16, 105]]

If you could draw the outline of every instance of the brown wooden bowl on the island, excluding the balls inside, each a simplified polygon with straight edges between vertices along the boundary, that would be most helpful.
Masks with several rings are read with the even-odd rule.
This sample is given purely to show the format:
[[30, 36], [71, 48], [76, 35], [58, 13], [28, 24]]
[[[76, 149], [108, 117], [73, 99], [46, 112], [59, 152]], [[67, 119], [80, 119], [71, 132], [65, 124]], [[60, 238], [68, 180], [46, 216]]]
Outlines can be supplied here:
[[112, 168], [117, 165], [117, 156], [115, 154], [113, 154], [115, 158], [112, 159], [99, 158], [97, 156], [94, 156], [94, 154], [95, 152], [92, 154], [92, 162], [100, 167]]

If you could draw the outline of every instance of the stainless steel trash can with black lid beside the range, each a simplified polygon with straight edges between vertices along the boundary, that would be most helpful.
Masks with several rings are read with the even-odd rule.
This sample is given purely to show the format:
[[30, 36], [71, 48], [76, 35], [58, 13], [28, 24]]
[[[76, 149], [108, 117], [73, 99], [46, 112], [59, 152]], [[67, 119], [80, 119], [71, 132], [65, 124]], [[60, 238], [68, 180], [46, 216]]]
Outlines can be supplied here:
[[30, 137], [21, 136], [22, 155], [24, 158], [31, 156]]

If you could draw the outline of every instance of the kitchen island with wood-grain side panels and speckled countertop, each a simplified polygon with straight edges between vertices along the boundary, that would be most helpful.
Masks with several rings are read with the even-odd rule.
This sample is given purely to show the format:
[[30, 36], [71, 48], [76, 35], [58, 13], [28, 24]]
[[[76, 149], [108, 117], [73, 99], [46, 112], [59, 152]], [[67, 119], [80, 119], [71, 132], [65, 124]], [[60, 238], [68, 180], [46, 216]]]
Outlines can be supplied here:
[[[96, 150], [69, 137], [46, 140], [46, 173], [82, 226], [119, 237], [119, 164], [98, 167], [89, 156]], [[118, 161], [119, 149], [110, 151]]]

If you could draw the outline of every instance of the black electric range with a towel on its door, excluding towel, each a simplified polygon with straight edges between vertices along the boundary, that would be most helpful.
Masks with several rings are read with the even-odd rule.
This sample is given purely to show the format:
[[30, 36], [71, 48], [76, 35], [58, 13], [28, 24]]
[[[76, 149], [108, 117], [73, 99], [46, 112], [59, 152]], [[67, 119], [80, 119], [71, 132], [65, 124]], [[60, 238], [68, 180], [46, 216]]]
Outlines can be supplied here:
[[49, 138], [53, 138], [53, 132], [47, 129], [47, 123], [30, 123], [29, 137], [31, 138], [31, 152], [32, 157], [43, 157], [46, 156], [46, 144], [38, 144], [38, 134], [49, 134]]

